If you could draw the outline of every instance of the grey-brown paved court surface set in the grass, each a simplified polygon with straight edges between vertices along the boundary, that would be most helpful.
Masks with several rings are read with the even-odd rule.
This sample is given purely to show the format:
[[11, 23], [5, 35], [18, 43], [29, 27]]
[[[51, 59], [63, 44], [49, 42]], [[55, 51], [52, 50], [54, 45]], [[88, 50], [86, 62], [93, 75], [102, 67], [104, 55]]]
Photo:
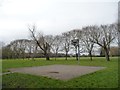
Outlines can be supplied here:
[[78, 65], [48, 65], [39, 67], [12, 68], [11, 72], [27, 73], [47, 76], [50, 78], [69, 80], [77, 76], [92, 73], [105, 67], [78, 66]]

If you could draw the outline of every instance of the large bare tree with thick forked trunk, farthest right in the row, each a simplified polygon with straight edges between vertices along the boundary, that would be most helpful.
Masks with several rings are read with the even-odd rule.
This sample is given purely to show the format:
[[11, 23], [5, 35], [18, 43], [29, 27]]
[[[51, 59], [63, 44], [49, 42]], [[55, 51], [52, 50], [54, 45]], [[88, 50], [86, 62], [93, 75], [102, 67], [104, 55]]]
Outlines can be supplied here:
[[115, 39], [115, 25], [91, 26], [89, 28], [91, 29], [91, 42], [101, 46], [105, 51], [107, 61], [110, 61], [109, 50], [111, 42]]

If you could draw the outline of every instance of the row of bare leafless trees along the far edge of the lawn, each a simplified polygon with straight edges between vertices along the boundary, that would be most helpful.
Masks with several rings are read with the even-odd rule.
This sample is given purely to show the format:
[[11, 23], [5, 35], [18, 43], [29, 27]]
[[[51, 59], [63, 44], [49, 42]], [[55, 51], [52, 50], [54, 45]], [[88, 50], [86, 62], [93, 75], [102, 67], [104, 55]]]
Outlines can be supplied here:
[[[42, 32], [37, 32], [35, 25], [28, 27], [31, 38], [17, 39], [10, 44], [2, 47], [2, 58], [33, 58], [45, 57], [49, 60], [51, 56], [69, 56], [70, 51], [75, 48], [71, 44], [71, 40], [79, 39], [79, 52], [88, 52], [90, 60], [92, 60], [92, 52], [95, 46], [98, 45], [101, 53], [110, 61], [110, 49], [112, 43], [118, 43], [118, 25], [90, 25], [82, 29], [73, 29], [64, 32], [60, 35], [44, 35]], [[64, 52], [64, 54], [60, 54]]]

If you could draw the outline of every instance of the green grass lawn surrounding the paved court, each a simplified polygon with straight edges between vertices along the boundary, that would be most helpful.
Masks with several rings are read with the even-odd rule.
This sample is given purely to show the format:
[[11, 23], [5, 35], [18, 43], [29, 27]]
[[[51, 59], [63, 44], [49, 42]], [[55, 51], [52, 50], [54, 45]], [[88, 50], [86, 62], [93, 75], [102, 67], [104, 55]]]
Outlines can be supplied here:
[[[46, 61], [43, 59], [33, 60], [3, 60], [2, 71], [7, 72], [8, 68], [32, 67], [52, 64], [78, 65], [74, 58], [65, 60], [58, 58], [56, 61], [51, 59]], [[108, 62], [104, 57], [94, 57], [90, 61], [88, 57], [82, 57], [81, 66], [104, 66], [104, 70], [100, 70], [91, 74], [73, 78], [68, 81], [51, 79], [43, 76], [35, 76], [29, 74], [6, 74], [2, 77], [3, 88], [117, 88], [118, 87], [118, 58], [112, 57]]]

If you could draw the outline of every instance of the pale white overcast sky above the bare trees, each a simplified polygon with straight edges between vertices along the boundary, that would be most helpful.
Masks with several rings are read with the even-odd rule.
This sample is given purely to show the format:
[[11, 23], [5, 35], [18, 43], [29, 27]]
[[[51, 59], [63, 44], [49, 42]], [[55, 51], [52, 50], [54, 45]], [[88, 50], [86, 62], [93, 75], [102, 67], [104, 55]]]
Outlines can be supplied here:
[[118, 0], [0, 0], [0, 41], [29, 38], [28, 25], [60, 34], [117, 21]]

